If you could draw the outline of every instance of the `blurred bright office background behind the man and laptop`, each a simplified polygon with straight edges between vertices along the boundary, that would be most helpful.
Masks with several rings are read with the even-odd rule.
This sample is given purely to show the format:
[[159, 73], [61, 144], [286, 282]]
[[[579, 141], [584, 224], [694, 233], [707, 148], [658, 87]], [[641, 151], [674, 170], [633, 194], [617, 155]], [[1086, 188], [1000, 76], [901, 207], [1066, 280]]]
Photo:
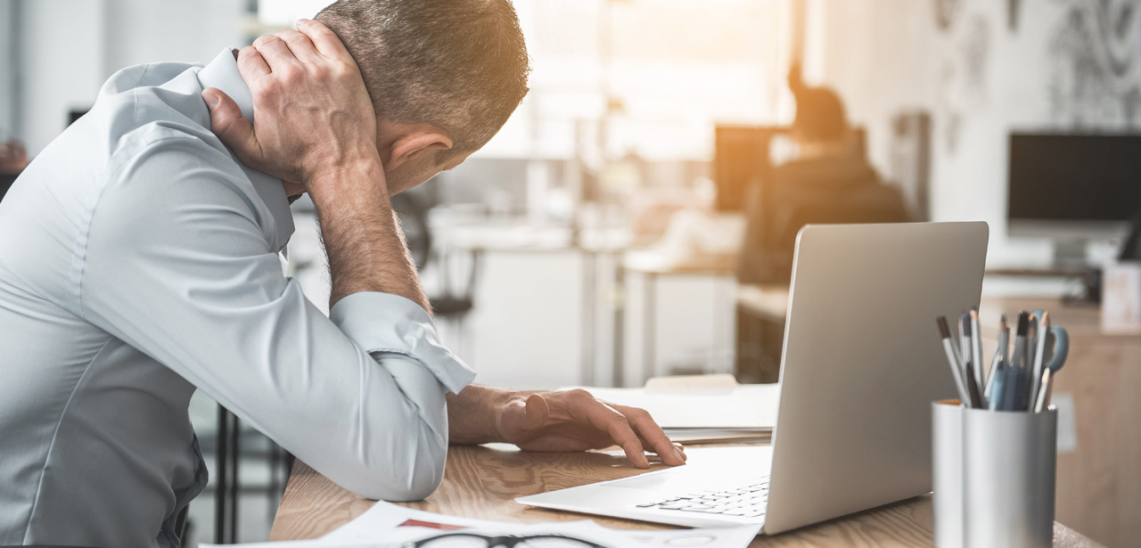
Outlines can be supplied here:
[[[0, 142], [19, 143], [7, 148], [0, 191], [22, 154], [34, 160], [114, 71], [208, 62], [325, 3], [0, 0]], [[751, 196], [803, 152], [787, 130], [794, 64], [807, 86], [842, 99], [851, 150], [907, 218], [989, 223], [988, 297], [1095, 306], [1082, 303], [1100, 296], [1098, 268], [1118, 257], [1141, 209], [1141, 161], [1131, 160], [1141, 158], [1136, 1], [515, 5], [531, 94], [483, 151], [396, 202], [444, 336], [482, 384], [639, 386], [714, 372], [776, 380], [783, 323], [739, 301], [779, 300], [770, 290], [786, 288], [787, 275], [741, 265], [755, 251], [746, 233], [767, 223]], [[1061, 168], [1101, 178], [1039, 182], [1035, 166], [1062, 158]], [[293, 209], [290, 271], [325, 307], [311, 204]], [[1118, 380], [1130, 379], [1136, 373]], [[201, 395], [192, 408], [217, 453], [217, 409]], [[265, 539], [286, 456], [246, 428], [234, 441], [240, 511], [228, 539]], [[1112, 450], [1138, 454], [1135, 441]], [[1110, 489], [1115, 476], [1099, 476], [1095, 460], [1074, 466], [1092, 467], [1083, 477]], [[1114, 516], [1060, 507], [1058, 518], [1124, 546], [1141, 534], [1136, 487], [1122, 495], [1132, 506], [1107, 510]], [[192, 543], [215, 540], [215, 492], [192, 506]]]

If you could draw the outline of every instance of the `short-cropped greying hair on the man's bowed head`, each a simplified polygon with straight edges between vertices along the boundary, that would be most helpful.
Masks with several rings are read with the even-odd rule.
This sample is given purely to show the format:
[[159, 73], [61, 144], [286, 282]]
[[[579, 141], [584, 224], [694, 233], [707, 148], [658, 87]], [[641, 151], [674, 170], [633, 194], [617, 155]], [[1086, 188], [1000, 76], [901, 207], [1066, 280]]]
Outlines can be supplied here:
[[356, 59], [379, 116], [474, 152], [527, 95], [531, 65], [509, 0], [340, 0], [315, 17]]

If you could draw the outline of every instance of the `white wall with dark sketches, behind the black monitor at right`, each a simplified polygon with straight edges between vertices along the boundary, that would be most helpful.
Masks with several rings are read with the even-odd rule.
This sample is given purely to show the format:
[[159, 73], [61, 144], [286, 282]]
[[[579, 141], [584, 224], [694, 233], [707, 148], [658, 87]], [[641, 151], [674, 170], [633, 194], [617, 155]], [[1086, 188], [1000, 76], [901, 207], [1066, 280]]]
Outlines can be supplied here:
[[[1009, 132], [1122, 129], [1131, 116], [1120, 97], [1141, 81], [1139, 18], [1125, 26], [1124, 38], [1106, 41], [1110, 51], [1123, 53], [1126, 72], [1102, 82], [1099, 55], [1107, 43], [1094, 39], [1085, 48], [1066, 25], [1074, 14], [1115, 21], [1123, 2], [1022, 1], [1017, 29], [1010, 27], [1005, 1], [810, 2], [807, 75], [834, 87], [851, 121], [867, 128], [877, 169], [887, 172], [889, 166], [891, 116], [930, 112], [933, 219], [987, 220], [992, 266], [1047, 263], [1047, 242], [1006, 235]], [[946, 29], [938, 24], [939, 6], [952, 7]], [[1132, 113], [1134, 127], [1139, 111]]]

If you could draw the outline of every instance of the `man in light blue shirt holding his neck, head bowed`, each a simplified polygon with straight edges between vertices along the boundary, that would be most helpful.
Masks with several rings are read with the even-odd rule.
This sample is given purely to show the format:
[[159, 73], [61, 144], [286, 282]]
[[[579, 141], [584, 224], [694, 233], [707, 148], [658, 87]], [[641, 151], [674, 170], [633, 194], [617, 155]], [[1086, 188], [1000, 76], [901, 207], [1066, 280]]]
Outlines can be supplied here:
[[[179, 546], [207, 482], [195, 389], [374, 499], [430, 494], [448, 443], [683, 462], [645, 411], [468, 386], [436, 337], [389, 196], [519, 104], [510, 3], [343, 0], [317, 19], [201, 68], [120, 71], [0, 202], [0, 545]], [[301, 192], [330, 317], [278, 260]]]

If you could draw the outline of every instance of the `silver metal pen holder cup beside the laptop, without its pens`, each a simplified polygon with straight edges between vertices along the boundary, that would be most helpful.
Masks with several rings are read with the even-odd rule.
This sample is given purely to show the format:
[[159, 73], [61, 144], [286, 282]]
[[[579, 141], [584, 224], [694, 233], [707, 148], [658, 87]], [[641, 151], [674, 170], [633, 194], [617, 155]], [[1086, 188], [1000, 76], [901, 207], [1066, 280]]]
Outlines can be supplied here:
[[932, 511], [939, 548], [1053, 543], [1058, 411], [931, 404]]

